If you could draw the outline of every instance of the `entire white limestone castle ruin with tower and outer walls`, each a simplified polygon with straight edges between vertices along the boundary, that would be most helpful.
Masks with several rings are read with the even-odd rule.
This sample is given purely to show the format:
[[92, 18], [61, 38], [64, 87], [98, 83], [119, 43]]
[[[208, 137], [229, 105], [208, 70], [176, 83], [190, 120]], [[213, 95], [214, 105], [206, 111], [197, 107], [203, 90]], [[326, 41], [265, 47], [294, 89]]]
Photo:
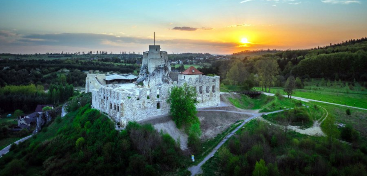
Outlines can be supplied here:
[[167, 52], [160, 51], [160, 45], [149, 45], [149, 51], [143, 52], [137, 78], [143, 86], [134, 83], [106, 84], [105, 74], [88, 74], [86, 92], [92, 92], [92, 108], [108, 114], [124, 127], [128, 121], [167, 115], [171, 88], [185, 83], [196, 90], [197, 108], [218, 106], [219, 76], [202, 74], [193, 67], [182, 73], [171, 72]]

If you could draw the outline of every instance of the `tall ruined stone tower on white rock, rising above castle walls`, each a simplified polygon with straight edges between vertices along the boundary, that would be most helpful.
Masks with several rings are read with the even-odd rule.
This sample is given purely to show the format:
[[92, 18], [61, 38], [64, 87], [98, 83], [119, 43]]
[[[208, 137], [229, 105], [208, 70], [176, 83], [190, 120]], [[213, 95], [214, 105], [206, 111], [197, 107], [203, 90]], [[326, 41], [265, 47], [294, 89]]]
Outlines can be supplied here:
[[142, 82], [144, 87], [172, 83], [169, 77], [171, 65], [168, 62], [167, 52], [160, 49], [160, 45], [149, 45], [149, 51], [143, 52], [143, 62], [137, 81]]

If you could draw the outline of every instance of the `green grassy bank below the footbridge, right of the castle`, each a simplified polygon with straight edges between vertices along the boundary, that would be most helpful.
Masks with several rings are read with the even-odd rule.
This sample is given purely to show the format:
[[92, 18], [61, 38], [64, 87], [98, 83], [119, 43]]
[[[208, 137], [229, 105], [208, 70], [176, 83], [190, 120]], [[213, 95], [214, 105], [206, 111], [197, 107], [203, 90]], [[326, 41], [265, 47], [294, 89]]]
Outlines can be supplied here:
[[271, 112], [284, 107], [290, 108], [295, 106], [295, 100], [276, 96], [260, 95], [257, 98], [249, 98], [246, 95], [240, 95], [241, 99], [228, 98], [228, 100], [236, 107], [241, 109], [260, 109], [259, 112]]

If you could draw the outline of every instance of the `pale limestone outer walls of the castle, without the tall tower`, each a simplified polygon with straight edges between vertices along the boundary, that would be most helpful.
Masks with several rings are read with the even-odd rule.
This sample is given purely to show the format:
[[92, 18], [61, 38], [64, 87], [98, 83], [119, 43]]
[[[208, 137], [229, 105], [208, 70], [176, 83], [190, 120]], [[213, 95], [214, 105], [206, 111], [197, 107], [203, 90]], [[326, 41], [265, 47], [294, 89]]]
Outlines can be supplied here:
[[[92, 81], [93, 82], [93, 81]], [[195, 87], [197, 107], [218, 106], [219, 97], [219, 76], [200, 76], [195, 80], [191, 78], [186, 82], [180, 79], [178, 83], [152, 86], [142, 88], [137, 92], [128, 92], [119, 85], [101, 86], [93, 89], [92, 108], [98, 109], [108, 114], [120, 126], [125, 126], [128, 121], [139, 121], [145, 118], [166, 115], [170, 111], [170, 104], [167, 99], [173, 86], [182, 86], [187, 83]], [[91, 83], [90, 83], [91, 84]]]

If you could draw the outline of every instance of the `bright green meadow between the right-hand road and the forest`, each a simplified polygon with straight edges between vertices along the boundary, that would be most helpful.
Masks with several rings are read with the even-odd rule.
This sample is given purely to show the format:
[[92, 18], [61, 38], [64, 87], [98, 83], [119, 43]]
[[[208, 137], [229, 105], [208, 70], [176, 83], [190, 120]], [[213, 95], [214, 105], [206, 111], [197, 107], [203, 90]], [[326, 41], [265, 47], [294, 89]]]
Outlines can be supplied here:
[[[255, 87], [255, 90], [261, 90], [260, 87]], [[334, 90], [334, 91], [333, 91]], [[271, 88], [270, 93], [275, 94], [277, 91], [280, 94], [286, 95], [283, 88]], [[359, 91], [350, 93], [336, 92], [335, 89], [318, 89], [318, 90], [307, 90], [307, 89], [295, 89], [295, 93], [292, 96], [308, 98], [313, 100], [320, 100], [324, 102], [331, 102], [337, 104], [344, 104], [348, 106], [355, 106], [367, 109], [367, 92], [365, 94]]]

